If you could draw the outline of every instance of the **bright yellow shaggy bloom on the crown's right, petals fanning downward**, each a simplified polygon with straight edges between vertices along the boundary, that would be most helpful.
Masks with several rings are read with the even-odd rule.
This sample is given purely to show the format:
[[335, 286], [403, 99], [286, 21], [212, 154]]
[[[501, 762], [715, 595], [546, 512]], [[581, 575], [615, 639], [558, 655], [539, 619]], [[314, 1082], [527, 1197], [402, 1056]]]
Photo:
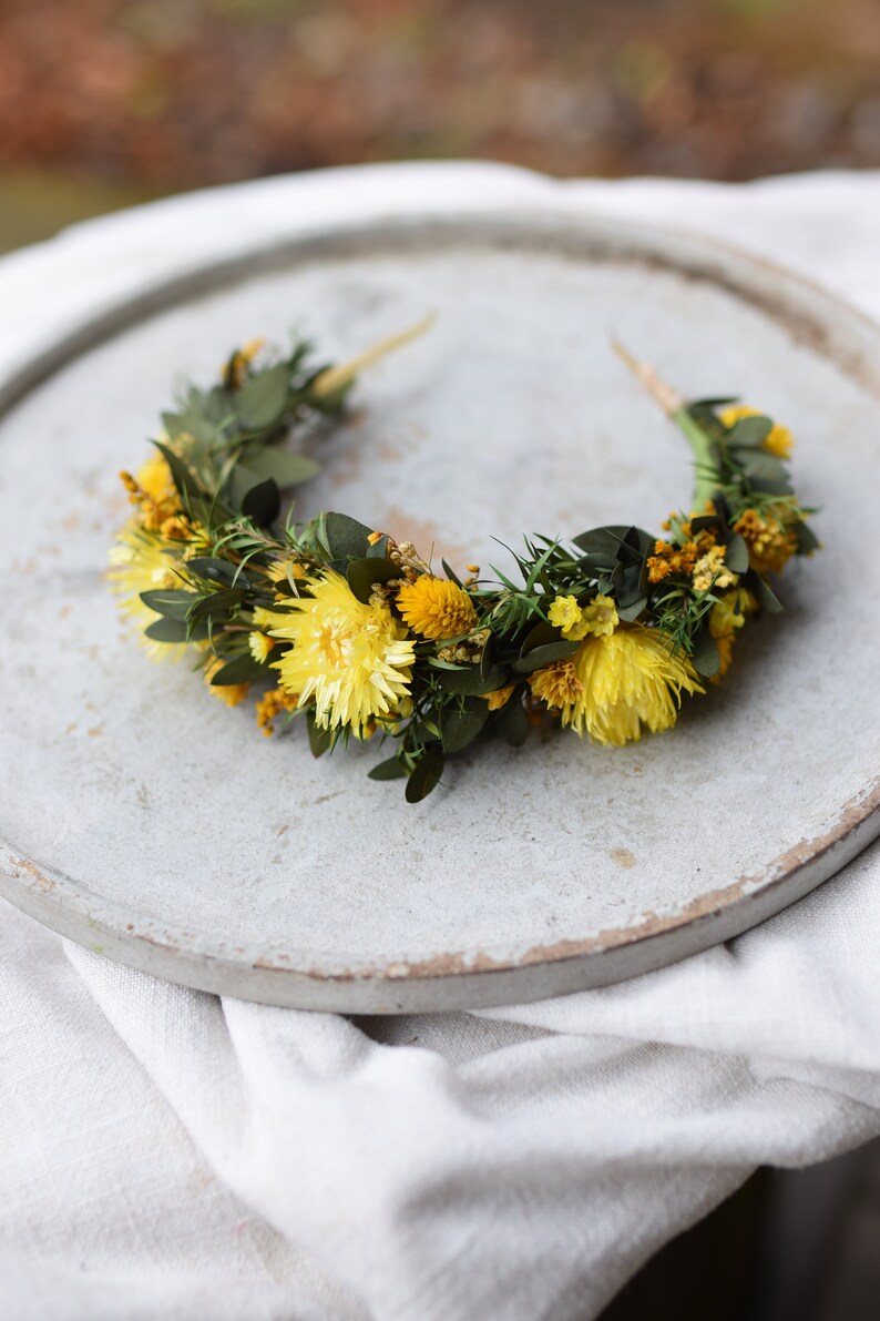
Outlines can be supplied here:
[[[683, 653], [673, 655], [665, 634], [640, 624], [623, 624], [611, 634], [584, 638], [562, 666], [571, 667], [565, 676], [559, 662], [546, 667], [559, 670], [551, 694], [558, 699], [554, 705], [561, 709], [562, 724], [606, 745], [640, 738], [643, 725], [652, 733], [669, 729], [678, 716], [682, 690], [705, 691]], [[532, 691], [541, 696], [549, 682], [537, 671]]]

